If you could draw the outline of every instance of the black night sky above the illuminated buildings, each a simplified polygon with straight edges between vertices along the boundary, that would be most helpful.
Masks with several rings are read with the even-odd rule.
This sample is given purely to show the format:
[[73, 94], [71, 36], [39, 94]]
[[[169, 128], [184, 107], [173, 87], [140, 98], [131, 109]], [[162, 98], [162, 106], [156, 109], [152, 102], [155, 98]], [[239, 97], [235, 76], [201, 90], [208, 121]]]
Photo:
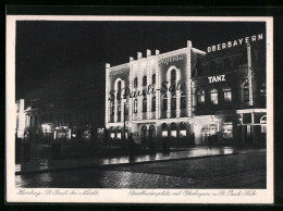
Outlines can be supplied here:
[[146, 55], [146, 49], [163, 53], [192, 40], [193, 47], [206, 50], [264, 30], [264, 23], [250, 22], [21, 21], [16, 23], [16, 99], [48, 83], [49, 75], [64, 77], [78, 71], [103, 75], [104, 63], [128, 62], [138, 51]]

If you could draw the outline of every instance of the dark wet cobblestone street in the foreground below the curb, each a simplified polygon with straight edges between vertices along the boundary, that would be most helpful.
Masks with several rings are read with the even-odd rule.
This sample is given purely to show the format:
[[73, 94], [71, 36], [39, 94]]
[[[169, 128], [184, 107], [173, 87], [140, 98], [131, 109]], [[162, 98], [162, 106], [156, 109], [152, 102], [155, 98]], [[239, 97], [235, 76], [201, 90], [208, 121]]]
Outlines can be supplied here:
[[266, 188], [266, 150], [16, 175], [16, 187]]

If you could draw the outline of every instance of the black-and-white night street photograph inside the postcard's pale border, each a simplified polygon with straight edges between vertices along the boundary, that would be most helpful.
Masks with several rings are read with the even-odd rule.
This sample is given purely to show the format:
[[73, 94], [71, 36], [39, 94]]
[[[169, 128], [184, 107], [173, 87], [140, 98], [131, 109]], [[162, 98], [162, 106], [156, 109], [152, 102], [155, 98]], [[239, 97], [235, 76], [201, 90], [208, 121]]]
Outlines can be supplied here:
[[16, 188], [267, 188], [264, 22], [17, 21]]

